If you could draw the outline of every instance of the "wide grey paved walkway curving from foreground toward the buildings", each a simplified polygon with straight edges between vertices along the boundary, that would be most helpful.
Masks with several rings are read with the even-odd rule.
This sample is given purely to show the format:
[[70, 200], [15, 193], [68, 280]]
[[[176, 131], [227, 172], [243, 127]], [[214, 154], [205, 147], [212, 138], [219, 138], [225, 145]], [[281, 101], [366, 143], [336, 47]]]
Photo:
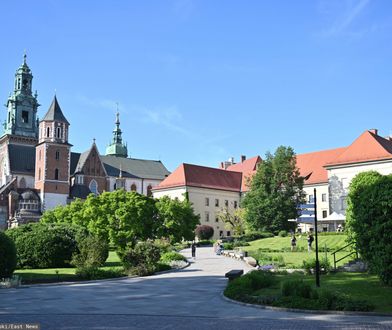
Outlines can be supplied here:
[[[189, 251], [185, 251], [189, 257]], [[199, 248], [181, 271], [145, 278], [0, 290], [0, 324], [42, 329], [392, 329], [392, 318], [315, 315], [241, 306], [223, 300], [225, 272], [249, 268]]]

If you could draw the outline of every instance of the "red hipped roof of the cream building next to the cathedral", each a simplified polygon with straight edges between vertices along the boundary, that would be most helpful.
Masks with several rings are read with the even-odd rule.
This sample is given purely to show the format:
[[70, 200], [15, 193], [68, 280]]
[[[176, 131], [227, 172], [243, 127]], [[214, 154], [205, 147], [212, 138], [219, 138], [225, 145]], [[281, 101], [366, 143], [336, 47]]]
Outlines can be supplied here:
[[218, 168], [181, 164], [154, 190], [173, 187], [199, 187], [240, 192], [242, 174]]

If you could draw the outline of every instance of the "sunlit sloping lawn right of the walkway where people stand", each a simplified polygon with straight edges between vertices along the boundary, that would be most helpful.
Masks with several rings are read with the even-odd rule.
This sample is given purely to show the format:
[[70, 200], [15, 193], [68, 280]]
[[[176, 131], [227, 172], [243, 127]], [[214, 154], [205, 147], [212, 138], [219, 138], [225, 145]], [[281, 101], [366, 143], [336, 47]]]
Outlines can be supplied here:
[[[327, 257], [330, 261], [331, 266], [333, 266], [333, 256], [332, 252], [335, 250], [345, 246], [346, 243], [346, 235], [319, 235], [319, 258], [320, 260]], [[307, 251], [307, 236], [297, 236], [297, 251], [291, 252], [290, 248], [291, 237], [272, 237], [272, 238], [264, 238], [260, 240], [256, 240], [250, 242], [250, 246], [242, 247], [241, 249], [244, 251], [248, 251], [249, 255], [259, 260], [260, 264], [270, 263], [268, 261], [268, 257], [277, 259], [283, 257], [283, 262], [285, 264], [284, 268], [301, 268], [302, 262], [304, 260], [309, 260], [315, 258], [315, 252]], [[315, 247], [315, 242], [313, 242], [313, 249]], [[327, 252], [324, 252], [327, 251]], [[337, 253], [337, 259], [343, 257], [349, 253], [349, 248]], [[355, 255], [352, 257], [342, 260], [338, 263], [342, 265], [348, 262], [350, 259], [353, 259]]]

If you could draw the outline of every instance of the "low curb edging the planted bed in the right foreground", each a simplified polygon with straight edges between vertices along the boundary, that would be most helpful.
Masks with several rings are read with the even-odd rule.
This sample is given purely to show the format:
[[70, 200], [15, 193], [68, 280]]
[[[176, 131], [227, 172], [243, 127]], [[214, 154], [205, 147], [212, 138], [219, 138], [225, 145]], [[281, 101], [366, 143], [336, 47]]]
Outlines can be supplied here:
[[392, 317], [392, 314], [387, 313], [375, 313], [375, 312], [354, 312], [354, 311], [326, 311], [326, 310], [314, 310], [314, 309], [297, 309], [297, 308], [286, 308], [286, 307], [275, 307], [275, 306], [268, 306], [268, 305], [256, 305], [256, 304], [249, 304], [244, 303], [242, 301], [233, 300], [226, 297], [223, 292], [221, 292], [221, 298], [229, 303], [253, 307], [258, 309], [266, 309], [272, 310], [277, 312], [291, 312], [291, 313], [306, 313], [306, 314], [334, 314], [334, 315], [348, 315], [348, 316], [381, 316], [381, 317]]

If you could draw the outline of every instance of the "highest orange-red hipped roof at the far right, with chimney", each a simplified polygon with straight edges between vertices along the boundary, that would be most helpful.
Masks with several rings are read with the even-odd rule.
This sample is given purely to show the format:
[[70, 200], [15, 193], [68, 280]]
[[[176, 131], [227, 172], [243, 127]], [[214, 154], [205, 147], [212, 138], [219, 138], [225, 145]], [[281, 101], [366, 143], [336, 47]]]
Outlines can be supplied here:
[[392, 159], [392, 141], [371, 131], [362, 133], [344, 152], [326, 166]]

